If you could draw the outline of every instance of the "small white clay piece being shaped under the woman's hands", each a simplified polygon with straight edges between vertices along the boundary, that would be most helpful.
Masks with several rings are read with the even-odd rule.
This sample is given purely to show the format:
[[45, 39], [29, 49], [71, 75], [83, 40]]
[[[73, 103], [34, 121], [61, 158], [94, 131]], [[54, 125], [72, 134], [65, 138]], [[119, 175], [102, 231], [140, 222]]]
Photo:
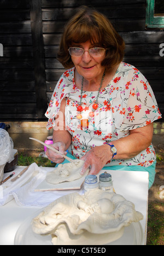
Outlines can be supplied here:
[[[45, 180], [51, 184], [75, 181], [76, 179], [80, 179], [82, 177], [80, 170], [83, 165], [84, 161], [79, 159], [66, 164], [59, 164], [54, 171], [46, 174]], [[85, 173], [85, 175], [87, 175], [87, 173]]]

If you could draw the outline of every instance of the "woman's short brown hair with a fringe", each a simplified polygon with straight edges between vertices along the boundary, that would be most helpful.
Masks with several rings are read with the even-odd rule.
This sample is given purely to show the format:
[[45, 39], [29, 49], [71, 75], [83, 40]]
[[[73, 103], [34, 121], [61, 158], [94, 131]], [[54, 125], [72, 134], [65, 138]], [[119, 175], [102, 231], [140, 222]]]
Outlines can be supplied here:
[[102, 66], [112, 68], [122, 61], [125, 49], [122, 37], [115, 31], [106, 16], [95, 9], [83, 6], [68, 21], [62, 35], [57, 59], [63, 67], [74, 67], [68, 48], [73, 43], [85, 43], [87, 40], [107, 49]]

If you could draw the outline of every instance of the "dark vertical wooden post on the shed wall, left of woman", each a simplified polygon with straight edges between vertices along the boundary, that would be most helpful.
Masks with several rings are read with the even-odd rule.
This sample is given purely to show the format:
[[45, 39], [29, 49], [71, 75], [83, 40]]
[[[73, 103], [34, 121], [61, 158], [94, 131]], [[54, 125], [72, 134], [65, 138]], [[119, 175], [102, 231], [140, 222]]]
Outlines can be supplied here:
[[38, 119], [42, 119], [46, 111], [47, 99], [40, 0], [30, 0], [30, 16], [33, 40], [34, 75], [36, 80], [37, 113]]

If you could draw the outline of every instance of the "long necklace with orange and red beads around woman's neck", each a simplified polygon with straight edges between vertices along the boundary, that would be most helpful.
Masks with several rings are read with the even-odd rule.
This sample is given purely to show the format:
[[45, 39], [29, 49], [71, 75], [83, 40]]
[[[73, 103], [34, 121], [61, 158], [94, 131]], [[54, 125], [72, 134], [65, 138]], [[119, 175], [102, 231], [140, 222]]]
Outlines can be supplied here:
[[84, 77], [82, 78], [82, 81], [81, 81], [81, 95], [80, 95], [80, 103], [78, 104], [77, 106], [77, 111], [78, 111], [78, 114], [77, 114], [77, 119], [81, 122], [81, 127], [88, 127], [89, 125], [89, 121], [94, 117], [95, 115], [95, 110], [98, 108], [98, 97], [99, 97], [99, 92], [102, 88], [102, 84], [103, 84], [103, 80], [104, 80], [104, 76], [106, 74], [106, 69], [104, 70], [104, 73], [102, 75], [102, 79], [101, 79], [101, 84], [99, 86], [99, 89], [98, 89], [98, 94], [97, 94], [97, 97], [96, 97], [96, 100], [94, 101], [93, 105], [92, 105], [92, 111], [89, 112], [89, 116], [88, 116], [88, 119], [83, 119], [82, 117], [82, 112], [83, 112], [83, 107], [81, 106], [82, 104], [82, 98], [83, 98], [83, 82], [84, 82]]

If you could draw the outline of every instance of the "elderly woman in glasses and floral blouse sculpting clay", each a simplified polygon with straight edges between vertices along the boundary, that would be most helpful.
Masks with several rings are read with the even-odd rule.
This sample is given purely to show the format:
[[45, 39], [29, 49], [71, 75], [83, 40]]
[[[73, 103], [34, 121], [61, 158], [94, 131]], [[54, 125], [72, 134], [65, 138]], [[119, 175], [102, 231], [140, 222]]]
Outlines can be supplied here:
[[124, 49], [124, 40], [98, 11], [81, 7], [69, 20], [58, 53], [67, 71], [46, 112], [61, 155], [49, 149], [46, 155], [57, 164], [65, 160], [62, 154], [84, 160], [81, 174], [89, 166], [90, 174], [102, 168], [148, 171], [150, 188], [153, 121], [161, 114], [147, 79], [122, 62]]

